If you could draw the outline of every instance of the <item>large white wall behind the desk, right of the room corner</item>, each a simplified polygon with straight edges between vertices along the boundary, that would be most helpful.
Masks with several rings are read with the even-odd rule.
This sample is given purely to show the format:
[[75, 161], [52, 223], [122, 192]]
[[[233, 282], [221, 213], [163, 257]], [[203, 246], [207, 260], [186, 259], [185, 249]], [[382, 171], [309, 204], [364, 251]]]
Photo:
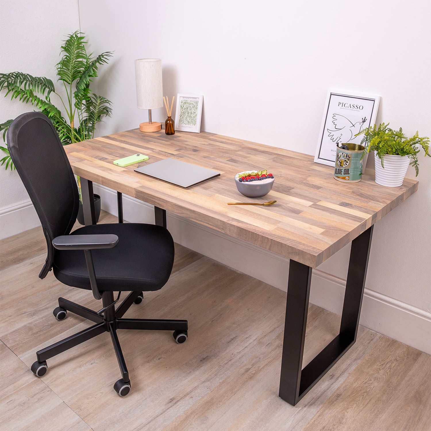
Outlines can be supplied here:
[[[147, 113], [136, 108], [133, 61], [161, 58], [164, 94], [204, 95], [205, 131], [314, 154], [325, 96], [336, 88], [381, 95], [378, 122], [431, 136], [426, 0], [332, 6], [319, 0], [79, 0], [79, 6], [92, 49], [115, 50], [98, 81], [114, 114], [99, 134], [147, 121]], [[153, 110], [153, 119], [164, 121], [163, 109]], [[429, 351], [431, 159], [421, 157], [420, 166], [419, 191], [375, 226], [361, 323]], [[414, 177], [411, 168], [407, 176]], [[128, 219], [151, 217], [130, 211]], [[175, 230], [178, 221], [170, 223]], [[200, 247], [190, 226], [175, 237], [257, 276], [229, 256], [231, 241], [209, 238], [211, 247]], [[340, 311], [348, 251], [321, 265], [322, 277], [313, 281], [312, 300], [334, 311]], [[262, 271], [259, 278], [282, 288], [287, 262], [275, 262], [272, 275]]]

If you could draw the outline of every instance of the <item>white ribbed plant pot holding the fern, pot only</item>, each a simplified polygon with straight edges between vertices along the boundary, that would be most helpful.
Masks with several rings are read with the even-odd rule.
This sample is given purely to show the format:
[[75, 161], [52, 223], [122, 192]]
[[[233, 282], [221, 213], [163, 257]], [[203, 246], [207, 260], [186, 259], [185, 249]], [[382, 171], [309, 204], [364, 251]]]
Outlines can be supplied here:
[[386, 187], [398, 187], [403, 184], [409, 167], [408, 156], [383, 156], [384, 169], [381, 167], [381, 160], [377, 153], [374, 153], [375, 182]]

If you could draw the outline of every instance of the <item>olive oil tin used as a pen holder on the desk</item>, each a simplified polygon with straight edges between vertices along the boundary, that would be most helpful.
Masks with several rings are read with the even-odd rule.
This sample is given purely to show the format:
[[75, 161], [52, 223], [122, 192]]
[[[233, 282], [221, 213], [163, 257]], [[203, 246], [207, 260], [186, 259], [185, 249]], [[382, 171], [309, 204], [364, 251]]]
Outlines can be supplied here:
[[347, 183], [357, 183], [362, 178], [362, 154], [365, 147], [359, 144], [347, 145], [348, 150], [337, 147], [337, 156], [335, 157], [334, 178], [338, 181]]

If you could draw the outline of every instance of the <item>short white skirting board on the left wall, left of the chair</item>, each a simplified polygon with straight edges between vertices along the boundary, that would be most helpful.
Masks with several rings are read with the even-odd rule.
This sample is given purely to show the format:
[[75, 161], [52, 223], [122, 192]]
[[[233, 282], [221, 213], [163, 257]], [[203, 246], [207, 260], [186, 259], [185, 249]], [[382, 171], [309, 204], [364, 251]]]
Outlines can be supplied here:
[[40, 225], [41, 222], [30, 199], [0, 209], [0, 239]]

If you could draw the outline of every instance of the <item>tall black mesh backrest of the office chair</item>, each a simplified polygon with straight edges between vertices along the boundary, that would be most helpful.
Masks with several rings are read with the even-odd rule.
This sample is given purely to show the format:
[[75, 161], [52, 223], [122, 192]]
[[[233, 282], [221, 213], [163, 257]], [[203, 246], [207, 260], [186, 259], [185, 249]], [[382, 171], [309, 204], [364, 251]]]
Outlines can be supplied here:
[[68, 235], [76, 221], [78, 187], [57, 132], [41, 112], [22, 114], [12, 122], [7, 147], [47, 240], [47, 259], [39, 274], [44, 278], [53, 265], [52, 240]]

